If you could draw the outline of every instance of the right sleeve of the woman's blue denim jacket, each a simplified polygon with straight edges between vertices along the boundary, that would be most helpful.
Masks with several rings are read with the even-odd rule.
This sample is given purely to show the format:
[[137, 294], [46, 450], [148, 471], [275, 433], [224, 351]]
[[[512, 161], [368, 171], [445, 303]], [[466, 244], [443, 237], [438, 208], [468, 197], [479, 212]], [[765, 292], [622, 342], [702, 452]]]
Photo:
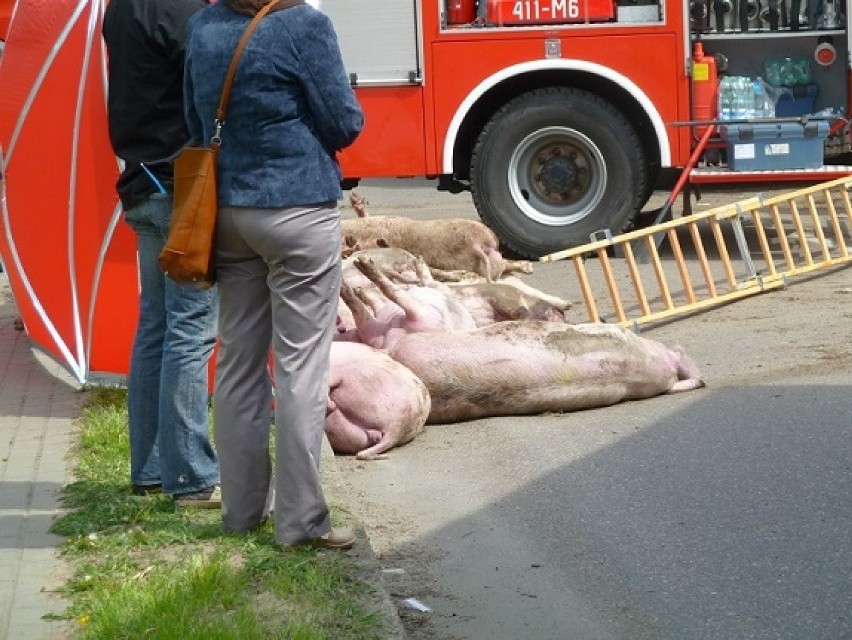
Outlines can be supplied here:
[[310, 28], [301, 37], [294, 35], [302, 84], [317, 133], [329, 148], [339, 151], [355, 142], [364, 126], [364, 113], [349, 85], [331, 20], [311, 11]]

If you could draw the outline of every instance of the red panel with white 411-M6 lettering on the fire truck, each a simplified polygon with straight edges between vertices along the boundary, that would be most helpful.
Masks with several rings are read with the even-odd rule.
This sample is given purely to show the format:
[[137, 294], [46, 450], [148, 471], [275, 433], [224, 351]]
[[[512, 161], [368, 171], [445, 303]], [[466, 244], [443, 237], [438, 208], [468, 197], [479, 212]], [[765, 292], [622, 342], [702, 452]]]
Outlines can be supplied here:
[[613, 0], [488, 0], [492, 24], [560, 24], [615, 19]]

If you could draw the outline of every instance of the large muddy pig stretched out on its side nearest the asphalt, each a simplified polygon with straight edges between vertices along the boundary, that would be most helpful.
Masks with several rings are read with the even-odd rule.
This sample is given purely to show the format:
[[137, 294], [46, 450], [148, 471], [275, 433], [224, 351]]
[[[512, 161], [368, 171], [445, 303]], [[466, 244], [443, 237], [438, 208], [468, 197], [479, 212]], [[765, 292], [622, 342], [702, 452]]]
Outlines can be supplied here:
[[519, 320], [411, 333], [388, 353], [429, 389], [430, 424], [574, 411], [704, 386], [679, 348], [612, 325]]

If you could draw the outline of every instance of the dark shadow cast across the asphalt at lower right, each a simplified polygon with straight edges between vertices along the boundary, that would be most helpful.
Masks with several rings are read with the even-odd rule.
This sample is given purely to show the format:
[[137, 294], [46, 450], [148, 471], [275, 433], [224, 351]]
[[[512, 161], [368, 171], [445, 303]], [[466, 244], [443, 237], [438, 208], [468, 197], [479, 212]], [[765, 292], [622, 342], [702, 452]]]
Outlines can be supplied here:
[[852, 637], [849, 392], [696, 395], [419, 539], [446, 555], [416, 637]]

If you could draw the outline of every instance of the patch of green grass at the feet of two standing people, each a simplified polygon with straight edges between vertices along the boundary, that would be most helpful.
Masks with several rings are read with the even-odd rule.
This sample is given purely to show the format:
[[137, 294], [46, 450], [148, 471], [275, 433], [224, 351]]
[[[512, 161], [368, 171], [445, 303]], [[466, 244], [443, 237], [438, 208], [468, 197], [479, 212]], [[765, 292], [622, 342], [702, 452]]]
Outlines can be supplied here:
[[52, 531], [73, 566], [61, 618], [80, 640], [373, 639], [383, 622], [346, 554], [281, 549], [271, 524], [226, 533], [218, 510], [132, 496], [126, 394], [86, 391], [75, 481]]

